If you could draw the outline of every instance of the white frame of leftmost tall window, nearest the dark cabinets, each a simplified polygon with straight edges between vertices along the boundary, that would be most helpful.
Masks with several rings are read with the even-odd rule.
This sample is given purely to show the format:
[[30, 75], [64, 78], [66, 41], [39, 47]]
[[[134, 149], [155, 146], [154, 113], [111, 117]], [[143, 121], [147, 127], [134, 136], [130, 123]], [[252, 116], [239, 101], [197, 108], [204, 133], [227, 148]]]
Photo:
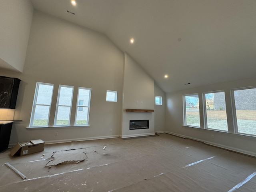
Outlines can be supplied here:
[[[50, 104], [49, 105], [47, 105], [47, 104], [38, 104], [37, 105], [36, 104], [36, 101], [37, 101], [37, 98], [38, 98], [39, 86], [40, 85], [50, 85], [50, 86], [52, 86], [52, 94], [51, 94], [51, 99], [50, 99]], [[53, 91], [54, 91], [54, 84], [52, 84], [52, 83], [36, 82], [36, 89], [35, 89], [35, 93], [34, 93], [34, 100], [33, 100], [33, 105], [32, 105], [32, 111], [31, 111], [31, 116], [30, 116], [29, 127], [33, 128], [33, 127], [48, 127], [49, 126], [50, 110], [51, 110], [51, 106], [52, 106]], [[46, 125], [43, 125], [43, 126], [33, 126], [36, 106], [49, 106], [48, 118], [47, 118], [47, 124]]]

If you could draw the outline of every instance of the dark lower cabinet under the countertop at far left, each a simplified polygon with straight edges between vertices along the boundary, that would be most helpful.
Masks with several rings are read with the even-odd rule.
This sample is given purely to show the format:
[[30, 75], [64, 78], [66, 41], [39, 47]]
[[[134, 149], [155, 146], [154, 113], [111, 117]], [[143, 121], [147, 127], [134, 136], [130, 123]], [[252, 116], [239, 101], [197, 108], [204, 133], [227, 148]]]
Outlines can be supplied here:
[[8, 124], [0, 124], [0, 152], [8, 148], [11, 131], [12, 122]]

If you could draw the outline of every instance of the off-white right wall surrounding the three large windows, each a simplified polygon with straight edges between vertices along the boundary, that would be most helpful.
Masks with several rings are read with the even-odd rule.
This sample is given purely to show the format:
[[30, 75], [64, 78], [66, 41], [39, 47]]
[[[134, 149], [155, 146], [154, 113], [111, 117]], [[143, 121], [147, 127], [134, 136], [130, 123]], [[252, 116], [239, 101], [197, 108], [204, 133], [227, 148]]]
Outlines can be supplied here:
[[[169, 133], [185, 136], [202, 142], [207, 142], [215, 146], [227, 148], [244, 154], [256, 156], [256, 137], [244, 136], [239, 134], [230, 133], [234, 130], [232, 119], [232, 107], [230, 89], [241, 88], [247, 86], [255, 86], [256, 78], [239, 80], [235, 82], [226, 82], [223, 84], [216, 84], [211, 86], [198, 87], [188, 90], [182, 90], [166, 94], [166, 130]], [[202, 93], [224, 90], [226, 98], [226, 111], [228, 119], [229, 133], [205, 130], [203, 129], [203, 113], [202, 113]], [[194, 94], [199, 95], [200, 105], [200, 125], [201, 128], [192, 128], [182, 126], [183, 124], [183, 108], [182, 108], [182, 95]], [[234, 131], [233, 131], [234, 132]], [[214, 138], [212, 138], [214, 134]]]

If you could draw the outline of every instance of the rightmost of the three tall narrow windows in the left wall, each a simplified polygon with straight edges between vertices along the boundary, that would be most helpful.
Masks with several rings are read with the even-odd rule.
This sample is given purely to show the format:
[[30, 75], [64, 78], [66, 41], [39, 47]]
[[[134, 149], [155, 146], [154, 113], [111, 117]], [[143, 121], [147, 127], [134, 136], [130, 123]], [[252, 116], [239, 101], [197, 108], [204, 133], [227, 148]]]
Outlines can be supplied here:
[[88, 125], [91, 89], [78, 87], [75, 125]]

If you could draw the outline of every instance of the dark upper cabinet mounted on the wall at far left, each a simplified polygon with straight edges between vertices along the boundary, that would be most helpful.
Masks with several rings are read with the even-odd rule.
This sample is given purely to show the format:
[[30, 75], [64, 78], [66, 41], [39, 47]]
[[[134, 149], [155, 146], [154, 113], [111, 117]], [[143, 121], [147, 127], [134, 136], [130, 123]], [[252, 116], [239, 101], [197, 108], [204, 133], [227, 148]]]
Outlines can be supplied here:
[[0, 108], [15, 109], [20, 79], [0, 76]]

